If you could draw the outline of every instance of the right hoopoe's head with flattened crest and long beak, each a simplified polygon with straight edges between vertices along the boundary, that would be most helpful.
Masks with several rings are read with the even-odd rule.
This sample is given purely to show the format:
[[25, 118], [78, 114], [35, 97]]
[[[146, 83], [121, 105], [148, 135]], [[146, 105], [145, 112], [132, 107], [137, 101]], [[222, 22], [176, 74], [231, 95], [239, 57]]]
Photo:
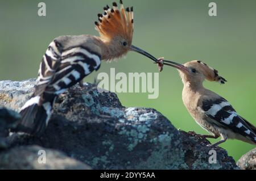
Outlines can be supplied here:
[[163, 61], [165, 65], [172, 66], [179, 70], [180, 77], [183, 83], [193, 83], [200, 84], [203, 83], [205, 79], [210, 82], [220, 82], [224, 84], [226, 79], [218, 75], [216, 69], [211, 68], [202, 61], [194, 60], [187, 62], [185, 64], [178, 64], [172, 61]]

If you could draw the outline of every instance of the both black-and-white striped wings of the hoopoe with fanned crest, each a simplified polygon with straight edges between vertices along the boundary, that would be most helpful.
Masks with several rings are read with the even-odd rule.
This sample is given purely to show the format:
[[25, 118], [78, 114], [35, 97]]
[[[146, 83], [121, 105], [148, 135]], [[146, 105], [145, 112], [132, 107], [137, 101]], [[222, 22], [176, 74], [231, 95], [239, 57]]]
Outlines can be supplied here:
[[62, 50], [61, 44], [54, 40], [43, 56], [35, 95], [42, 92], [59, 95], [98, 70], [100, 65], [100, 54], [84, 47]]

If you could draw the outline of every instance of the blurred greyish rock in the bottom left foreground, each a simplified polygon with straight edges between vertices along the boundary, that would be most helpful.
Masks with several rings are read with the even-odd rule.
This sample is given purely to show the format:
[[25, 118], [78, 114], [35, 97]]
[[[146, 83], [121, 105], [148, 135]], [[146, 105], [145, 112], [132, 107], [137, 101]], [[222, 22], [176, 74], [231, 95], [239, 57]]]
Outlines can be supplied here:
[[[46, 155], [45, 159], [43, 155]], [[22, 158], [22, 159], [21, 159]], [[0, 169], [11, 170], [88, 170], [89, 166], [60, 151], [40, 146], [18, 146], [0, 154]]]

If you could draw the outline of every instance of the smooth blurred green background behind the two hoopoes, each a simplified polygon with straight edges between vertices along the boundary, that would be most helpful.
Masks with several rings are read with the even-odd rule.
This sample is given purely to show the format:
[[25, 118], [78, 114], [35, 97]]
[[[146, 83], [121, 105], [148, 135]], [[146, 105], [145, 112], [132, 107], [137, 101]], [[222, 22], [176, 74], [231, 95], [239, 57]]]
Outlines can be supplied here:
[[[48, 44], [60, 35], [97, 35], [94, 21], [102, 7], [113, 0], [45, 0], [47, 16], [39, 17], [40, 1], [0, 0], [0, 80], [20, 81], [36, 77]], [[205, 82], [224, 96], [243, 117], [256, 125], [256, 1], [214, 1], [217, 17], [208, 15], [207, 0], [126, 0], [134, 6], [133, 44], [156, 57], [187, 62], [203, 60], [228, 79], [226, 85]], [[99, 72], [158, 72], [156, 65], [136, 53], [118, 62], [103, 63]], [[159, 98], [147, 94], [118, 94], [123, 106], [154, 107], [176, 128], [206, 133], [189, 115], [181, 100], [183, 85], [177, 71], [160, 73]], [[215, 140], [210, 140], [215, 141]], [[237, 140], [221, 145], [236, 160], [255, 146]]]

